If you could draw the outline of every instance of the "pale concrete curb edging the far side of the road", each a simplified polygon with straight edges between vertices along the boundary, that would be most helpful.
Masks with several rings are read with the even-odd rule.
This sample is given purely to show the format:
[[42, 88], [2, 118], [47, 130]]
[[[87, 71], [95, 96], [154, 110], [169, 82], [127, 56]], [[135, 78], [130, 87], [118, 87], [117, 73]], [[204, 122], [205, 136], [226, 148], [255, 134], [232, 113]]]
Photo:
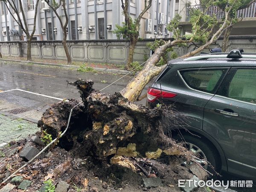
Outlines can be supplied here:
[[[15, 63], [23, 63], [23, 64], [29, 64], [33, 63], [36, 65], [45, 65], [45, 66], [51, 66], [51, 67], [62, 67], [66, 69], [74, 68], [78, 69], [79, 66], [77, 65], [64, 65], [64, 64], [54, 64], [54, 63], [41, 63], [41, 62], [35, 62], [35, 61], [20, 61], [20, 60], [14, 60], [14, 59], [3, 59], [0, 58], [0, 61], [9, 61], [9, 62], [15, 62]], [[118, 73], [120, 75], [126, 75], [129, 73], [127, 70], [116, 70], [116, 69], [107, 69], [107, 68], [98, 68], [98, 67], [93, 67], [94, 70], [100, 71], [100, 72], [105, 72], [105, 73]], [[132, 75], [132, 73], [130, 73]]]

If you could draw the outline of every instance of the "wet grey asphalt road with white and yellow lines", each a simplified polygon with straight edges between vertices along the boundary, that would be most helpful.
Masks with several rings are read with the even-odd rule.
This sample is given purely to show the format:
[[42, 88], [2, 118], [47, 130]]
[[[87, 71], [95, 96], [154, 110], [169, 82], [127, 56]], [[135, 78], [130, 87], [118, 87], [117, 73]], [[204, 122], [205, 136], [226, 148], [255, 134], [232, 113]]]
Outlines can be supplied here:
[[[67, 81], [75, 81], [76, 78], [92, 79], [94, 81], [93, 87], [101, 90], [120, 77], [120, 75], [116, 74], [78, 72], [76, 70], [45, 67], [35, 64], [6, 64], [0, 62], [0, 90], [6, 91], [18, 88], [60, 99], [81, 100], [76, 87], [67, 85]], [[131, 76], [125, 76], [115, 84], [107, 87], [103, 92], [119, 92], [131, 79]], [[35, 109], [58, 102], [56, 99], [23, 93], [18, 90], [1, 93], [0, 99]], [[145, 104], [145, 99], [140, 104]]]

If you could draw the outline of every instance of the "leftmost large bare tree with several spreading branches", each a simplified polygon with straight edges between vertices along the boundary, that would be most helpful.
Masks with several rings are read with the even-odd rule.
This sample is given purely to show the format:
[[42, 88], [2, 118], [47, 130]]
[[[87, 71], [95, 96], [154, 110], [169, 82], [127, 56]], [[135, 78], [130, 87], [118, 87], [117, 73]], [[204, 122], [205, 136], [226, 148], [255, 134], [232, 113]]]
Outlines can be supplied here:
[[[12, 15], [15, 22], [21, 27], [23, 32], [26, 34], [27, 61], [32, 61], [31, 42], [32, 42], [33, 35], [35, 34], [35, 24], [36, 24], [36, 17], [37, 17], [37, 13], [38, 13], [39, 0], [36, 0], [36, 3], [35, 3], [35, 15], [34, 15], [33, 28], [32, 28], [31, 33], [30, 33], [31, 29], [29, 29], [29, 25], [27, 23], [27, 18], [25, 15], [26, 9], [24, 9], [24, 7], [22, 5], [22, 0], [18, 0], [18, 1], [16, 1], [16, 0], [0, 0], [0, 1], [3, 1], [5, 3], [5, 6], [8, 9], [9, 14]], [[16, 3], [16, 2], [18, 2], [18, 3]], [[21, 15], [20, 15], [20, 12], [21, 12]]]

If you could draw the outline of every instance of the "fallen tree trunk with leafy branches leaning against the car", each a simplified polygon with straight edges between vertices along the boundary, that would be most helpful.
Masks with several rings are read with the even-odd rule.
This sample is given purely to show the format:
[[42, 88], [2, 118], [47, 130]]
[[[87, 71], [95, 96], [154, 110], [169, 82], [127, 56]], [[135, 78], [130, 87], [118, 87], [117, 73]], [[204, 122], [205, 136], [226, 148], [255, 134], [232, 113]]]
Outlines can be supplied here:
[[[209, 45], [217, 41], [224, 30], [232, 25], [232, 23], [230, 24], [228, 22], [227, 16], [230, 14], [237, 1], [238, 0], [233, 0], [232, 4], [226, 4], [225, 18], [223, 23], [219, 25], [216, 15], [207, 15], [207, 12], [213, 5], [214, 0], [202, 0], [201, 6], [204, 6], [205, 9], [202, 10], [200, 7], [198, 7], [189, 10], [192, 33], [182, 37], [180, 37], [180, 30], [178, 29], [181, 17], [180, 15], [175, 15], [174, 19], [171, 20], [167, 26], [167, 29], [173, 32], [174, 40], [162, 41], [164, 43], [161, 42], [159, 47], [155, 49], [154, 54], [145, 62], [143, 70], [141, 70], [140, 73], [138, 73], [121, 91], [122, 95], [132, 102], [136, 101], [140, 97], [145, 85], [148, 84], [148, 82], [154, 76], [157, 76], [166, 67], [166, 64], [158, 65], [158, 63], [163, 55], [166, 54], [167, 49], [174, 46], [187, 46], [188, 43], [199, 41], [203, 42], [203, 45], [200, 47], [197, 47], [192, 52], [188, 52], [180, 57], [186, 58], [203, 51], [205, 48], [209, 47]], [[217, 27], [218, 29], [216, 29]]]

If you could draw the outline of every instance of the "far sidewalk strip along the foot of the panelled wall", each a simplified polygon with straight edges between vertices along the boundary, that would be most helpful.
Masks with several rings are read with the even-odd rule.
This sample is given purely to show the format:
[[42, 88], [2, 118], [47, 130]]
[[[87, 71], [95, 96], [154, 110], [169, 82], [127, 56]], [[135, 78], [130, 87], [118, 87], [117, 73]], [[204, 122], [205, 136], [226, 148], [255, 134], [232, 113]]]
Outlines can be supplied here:
[[39, 58], [32, 58], [32, 61], [26, 61], [24, 57], [7, 57], [3, 56], [0, 58], [0, 61], [9, 61], [9, 62], [18, 62], [18, 63], [25, 63], [25, 64], [38, 64], [38, 65], [46, 65], [51, 67], [63, 67], [69, 69], [78, 69], [81, 65], [86, 65], [87, 67], [93, 67], [96, 71], [102, 71], [107, 73], [118, 73], [121, 75], [125, 75], [129, 73], [129, 71], [125, 70], [124, 65], [117, 65], [117, 64], [96, 64], [96, 63], [86, 63], [82, 61], [73, 61], [72, 65], [67, 65], [67, 61], [65, 60], [55, 60], [55, 59], [39, 59]]

